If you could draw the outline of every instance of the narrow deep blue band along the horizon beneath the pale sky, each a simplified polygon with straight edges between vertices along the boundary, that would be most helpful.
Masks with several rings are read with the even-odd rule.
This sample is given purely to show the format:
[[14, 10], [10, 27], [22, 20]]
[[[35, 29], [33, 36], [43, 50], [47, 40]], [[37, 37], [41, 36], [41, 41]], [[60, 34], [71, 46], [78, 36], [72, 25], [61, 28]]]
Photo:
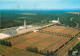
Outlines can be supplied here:
[[56, 13], [65, 13], [65, 12], [80, 12], [79, 9], [51, 9], [51, 10], [27, 10], [27, 9], [0, 9], [0, 11], [32, 11], [32, 12], [56, 12]]

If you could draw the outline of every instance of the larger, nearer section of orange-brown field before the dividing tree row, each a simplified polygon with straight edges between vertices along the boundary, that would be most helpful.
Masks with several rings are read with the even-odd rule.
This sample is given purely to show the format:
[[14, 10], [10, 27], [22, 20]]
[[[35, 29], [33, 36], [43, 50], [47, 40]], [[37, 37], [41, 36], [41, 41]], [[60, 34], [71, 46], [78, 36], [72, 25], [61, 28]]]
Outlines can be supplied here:
[[[27, 38], [27, 36], [29, 36], [29, 38]], [[39, 51], [43, 50], [46, 52], [47, 50], [53, 50], [54, 52], [57, 52], [56, 49], [62, 48], [62, 45], [66, 45], [66, 42], [71, 39], [69, 37], [61, 37], [39, 32], [34, 33], [34, 37], [30, 36], [31, 35], [27, 34], [26, 36], [18, 37], [18, 39], [13, 38], [15, 41], [13, 39], [9, 39], [8, 41], [13, 44], [12, 47], [19, 49], [25, 49], [26, 47], [37, 47]]]

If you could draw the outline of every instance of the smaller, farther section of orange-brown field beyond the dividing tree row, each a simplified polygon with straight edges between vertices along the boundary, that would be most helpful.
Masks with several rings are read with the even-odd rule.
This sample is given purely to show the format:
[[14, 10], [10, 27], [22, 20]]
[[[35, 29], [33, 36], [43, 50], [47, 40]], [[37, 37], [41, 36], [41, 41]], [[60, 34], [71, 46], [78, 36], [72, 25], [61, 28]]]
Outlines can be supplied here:
[[49, 32], [49, 33], [58, 33], [63, 35], [71, 35], [72, 37], [77, 35], [80, 30], [72, 27], [65, 27], [65, 26], [51, 26], [41, 30], [42, 32]]

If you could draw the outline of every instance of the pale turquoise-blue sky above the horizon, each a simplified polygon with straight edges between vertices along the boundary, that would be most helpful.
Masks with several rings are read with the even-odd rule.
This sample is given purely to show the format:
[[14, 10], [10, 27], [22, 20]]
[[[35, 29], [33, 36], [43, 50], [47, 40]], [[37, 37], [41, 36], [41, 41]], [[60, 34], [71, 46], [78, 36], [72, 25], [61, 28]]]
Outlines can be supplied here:
[[80, 9], [80, 0], [0, 0], [0, 9]]

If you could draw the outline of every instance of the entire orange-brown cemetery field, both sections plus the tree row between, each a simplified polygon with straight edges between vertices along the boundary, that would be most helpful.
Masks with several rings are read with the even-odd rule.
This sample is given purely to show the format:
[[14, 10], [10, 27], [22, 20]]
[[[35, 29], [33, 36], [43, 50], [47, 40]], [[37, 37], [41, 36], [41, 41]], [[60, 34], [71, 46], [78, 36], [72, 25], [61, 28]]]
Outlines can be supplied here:
[[[76, 31], [76, 32], [75, 32]], [[31, 32], [19, 37], [7, 39], [12, 47], [25, 50], [27, 47], [37, 47], [38, 51], [53, 51], [57, 53], [79, 34], [79, 30], [64, 26], [50, 26], [39, 32]], [[71, 36], [72, 35], [72, 36]], [[74, 36], [73, 36], [74, 35]]]

